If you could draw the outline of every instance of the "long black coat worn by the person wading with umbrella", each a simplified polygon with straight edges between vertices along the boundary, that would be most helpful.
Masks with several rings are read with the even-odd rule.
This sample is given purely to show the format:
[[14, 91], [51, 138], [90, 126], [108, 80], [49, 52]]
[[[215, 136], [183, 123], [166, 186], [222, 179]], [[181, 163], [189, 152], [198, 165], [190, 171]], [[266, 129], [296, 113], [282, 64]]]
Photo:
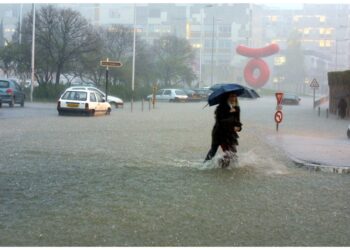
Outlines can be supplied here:
[[242, 129], [240, 120], [240, 108], [234, 107], [236, 112], [230, 112], [230, 106], [227, 103], [220, 103], [215, 110], [215, 125], [212, 131], [213, 144], [238, 145], [238, 134], [234, 127]]

